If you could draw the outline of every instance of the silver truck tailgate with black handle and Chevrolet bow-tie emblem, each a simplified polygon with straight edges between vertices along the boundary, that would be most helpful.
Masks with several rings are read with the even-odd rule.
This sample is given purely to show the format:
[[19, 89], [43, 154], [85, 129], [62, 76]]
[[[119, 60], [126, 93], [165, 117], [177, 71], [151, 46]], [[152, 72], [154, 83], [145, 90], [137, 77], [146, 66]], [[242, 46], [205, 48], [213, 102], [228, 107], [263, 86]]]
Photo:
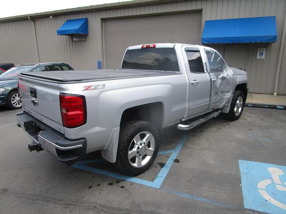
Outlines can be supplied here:
[[19, 90], [25, 112], [64, 134], [57, 83], [19, 77]]

